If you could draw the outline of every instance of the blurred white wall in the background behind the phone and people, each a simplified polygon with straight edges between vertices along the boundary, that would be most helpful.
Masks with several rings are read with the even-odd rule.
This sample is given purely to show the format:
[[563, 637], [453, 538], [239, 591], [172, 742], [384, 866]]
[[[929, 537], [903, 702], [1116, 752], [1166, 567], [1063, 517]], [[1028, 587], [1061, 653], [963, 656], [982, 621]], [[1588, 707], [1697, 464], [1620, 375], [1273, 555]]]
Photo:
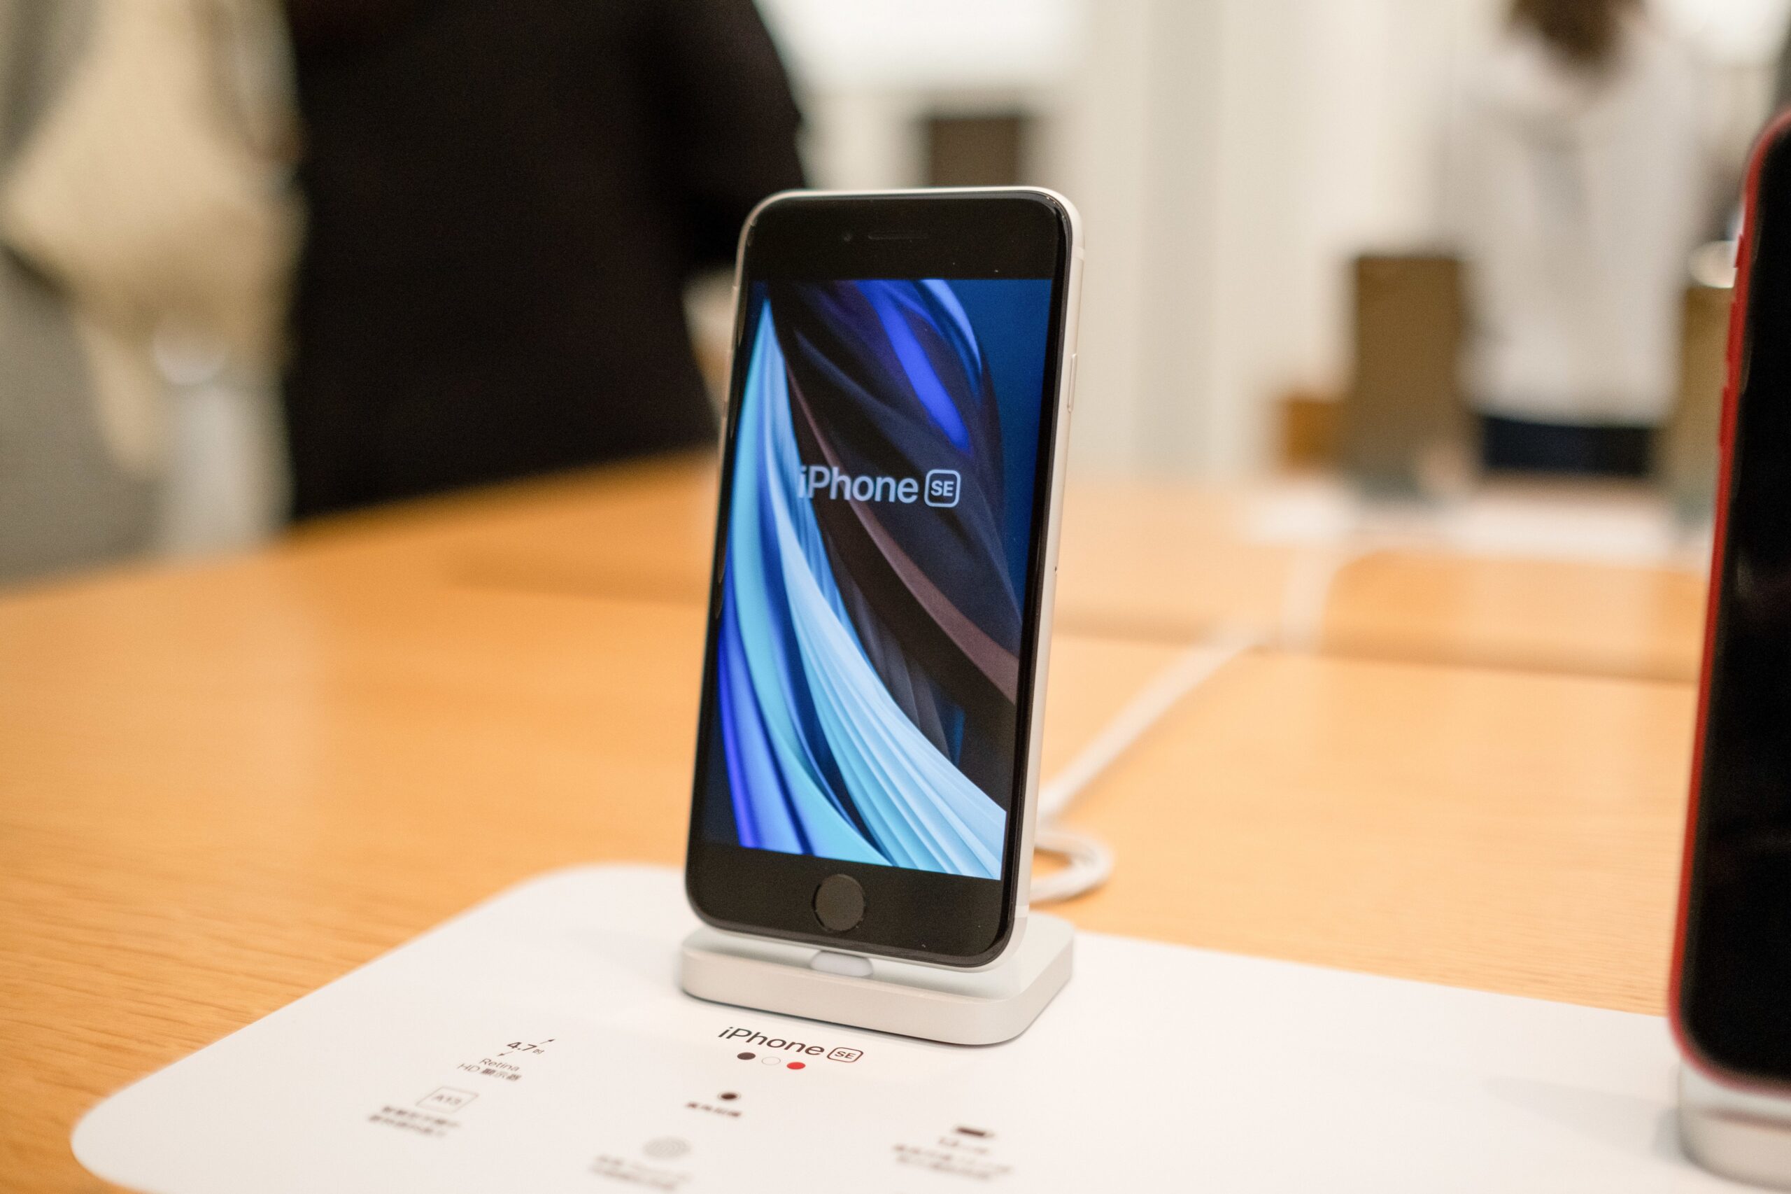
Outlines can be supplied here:
[[[1347, 267], [1440, 237], [1440, 152], [1506, 0], [761, 0], [818, 185], [921, 177], [915, 117], [1024, 104], [1087, 222], [1078, 470], [1232, 475], [1349, 375]], [[1791, 0], [1655, 0], [1744, 140]], [[1725, 74], [1727, 72], [1727, 74]]]

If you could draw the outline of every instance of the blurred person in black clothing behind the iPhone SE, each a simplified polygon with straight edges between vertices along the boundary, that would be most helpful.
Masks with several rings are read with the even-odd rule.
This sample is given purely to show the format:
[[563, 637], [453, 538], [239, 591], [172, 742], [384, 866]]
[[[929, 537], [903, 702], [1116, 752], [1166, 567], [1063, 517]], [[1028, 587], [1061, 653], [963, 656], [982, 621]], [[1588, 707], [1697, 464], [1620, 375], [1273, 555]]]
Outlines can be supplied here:
[[801, 186], [750, 0], [288, 0], [292, 515], [713, 443], [684, 283]]

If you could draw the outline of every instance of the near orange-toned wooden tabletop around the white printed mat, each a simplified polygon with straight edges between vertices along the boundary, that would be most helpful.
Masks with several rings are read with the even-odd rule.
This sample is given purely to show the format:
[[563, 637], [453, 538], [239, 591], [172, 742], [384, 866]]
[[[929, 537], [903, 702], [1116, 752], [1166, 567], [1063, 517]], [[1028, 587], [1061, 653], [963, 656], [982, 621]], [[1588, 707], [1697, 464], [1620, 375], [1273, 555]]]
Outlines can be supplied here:
[[[700, 484], [544, 482], [0, 599], [7, 1181], [91, 1189], [66, 1137], [93, 1101], [510, 882], [677, 862]], [[1060, 633], [1046, 771], [1173, 651]], [[1121, 868], [1066, 911], [1657, 1011], [1691, 699], [1245, 656], [1076, 807]]]

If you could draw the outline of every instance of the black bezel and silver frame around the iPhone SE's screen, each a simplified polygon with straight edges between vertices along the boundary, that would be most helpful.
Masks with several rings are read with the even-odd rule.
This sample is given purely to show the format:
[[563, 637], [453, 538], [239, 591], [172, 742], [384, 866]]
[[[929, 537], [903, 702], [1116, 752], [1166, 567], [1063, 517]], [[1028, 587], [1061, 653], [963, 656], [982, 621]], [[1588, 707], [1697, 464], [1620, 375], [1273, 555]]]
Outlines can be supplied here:
[[[1075, 265], [1073, 208], [1051, 192], [1035, 188], [788, 192], [763, 203], [747, 221], [736, 264], [734, 360], [729, 376], [729, 411], [722, 430], [702, 710], [684, 870], [691, 909], [707, 925], [820, 948], [955, 968], [990, 965], [1008, 948], [1021, 914], [1023, 884], [1028, 882], [1032, 870], [1042, 678], [1062, 498], [1067, 366], [1073, 348]], [[999, 880], [752, 850], [711, 843], [702, 834], [702, 783], [707, 753], [713, 748], [711, 694], [738, 394], [747, 369], [745, 353], [740, 350], [747, 335], [750, 287], [754, 281], [776, 278], [926, 276], [1050, 276], [1053, 281], [1044, 409], [1039, 423], [1033, 550], [1021, 608], [1014, 791], [1008, 801]], [[847, 932], [824, 930], [811, 909], [815, 887], [835, 873], [851, 875], [867, 893], [865, 920]]]

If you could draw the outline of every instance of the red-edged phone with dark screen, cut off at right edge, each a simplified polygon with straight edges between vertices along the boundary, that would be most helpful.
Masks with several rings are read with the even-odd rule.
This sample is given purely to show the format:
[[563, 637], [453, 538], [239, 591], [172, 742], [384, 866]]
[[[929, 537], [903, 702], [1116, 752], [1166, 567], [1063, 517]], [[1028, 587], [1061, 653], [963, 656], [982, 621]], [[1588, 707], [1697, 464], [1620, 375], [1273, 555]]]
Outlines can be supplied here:
[[1710, 1077], [1791, 1094], [1791, 118], [1743, 228], [1671, 1017]]

